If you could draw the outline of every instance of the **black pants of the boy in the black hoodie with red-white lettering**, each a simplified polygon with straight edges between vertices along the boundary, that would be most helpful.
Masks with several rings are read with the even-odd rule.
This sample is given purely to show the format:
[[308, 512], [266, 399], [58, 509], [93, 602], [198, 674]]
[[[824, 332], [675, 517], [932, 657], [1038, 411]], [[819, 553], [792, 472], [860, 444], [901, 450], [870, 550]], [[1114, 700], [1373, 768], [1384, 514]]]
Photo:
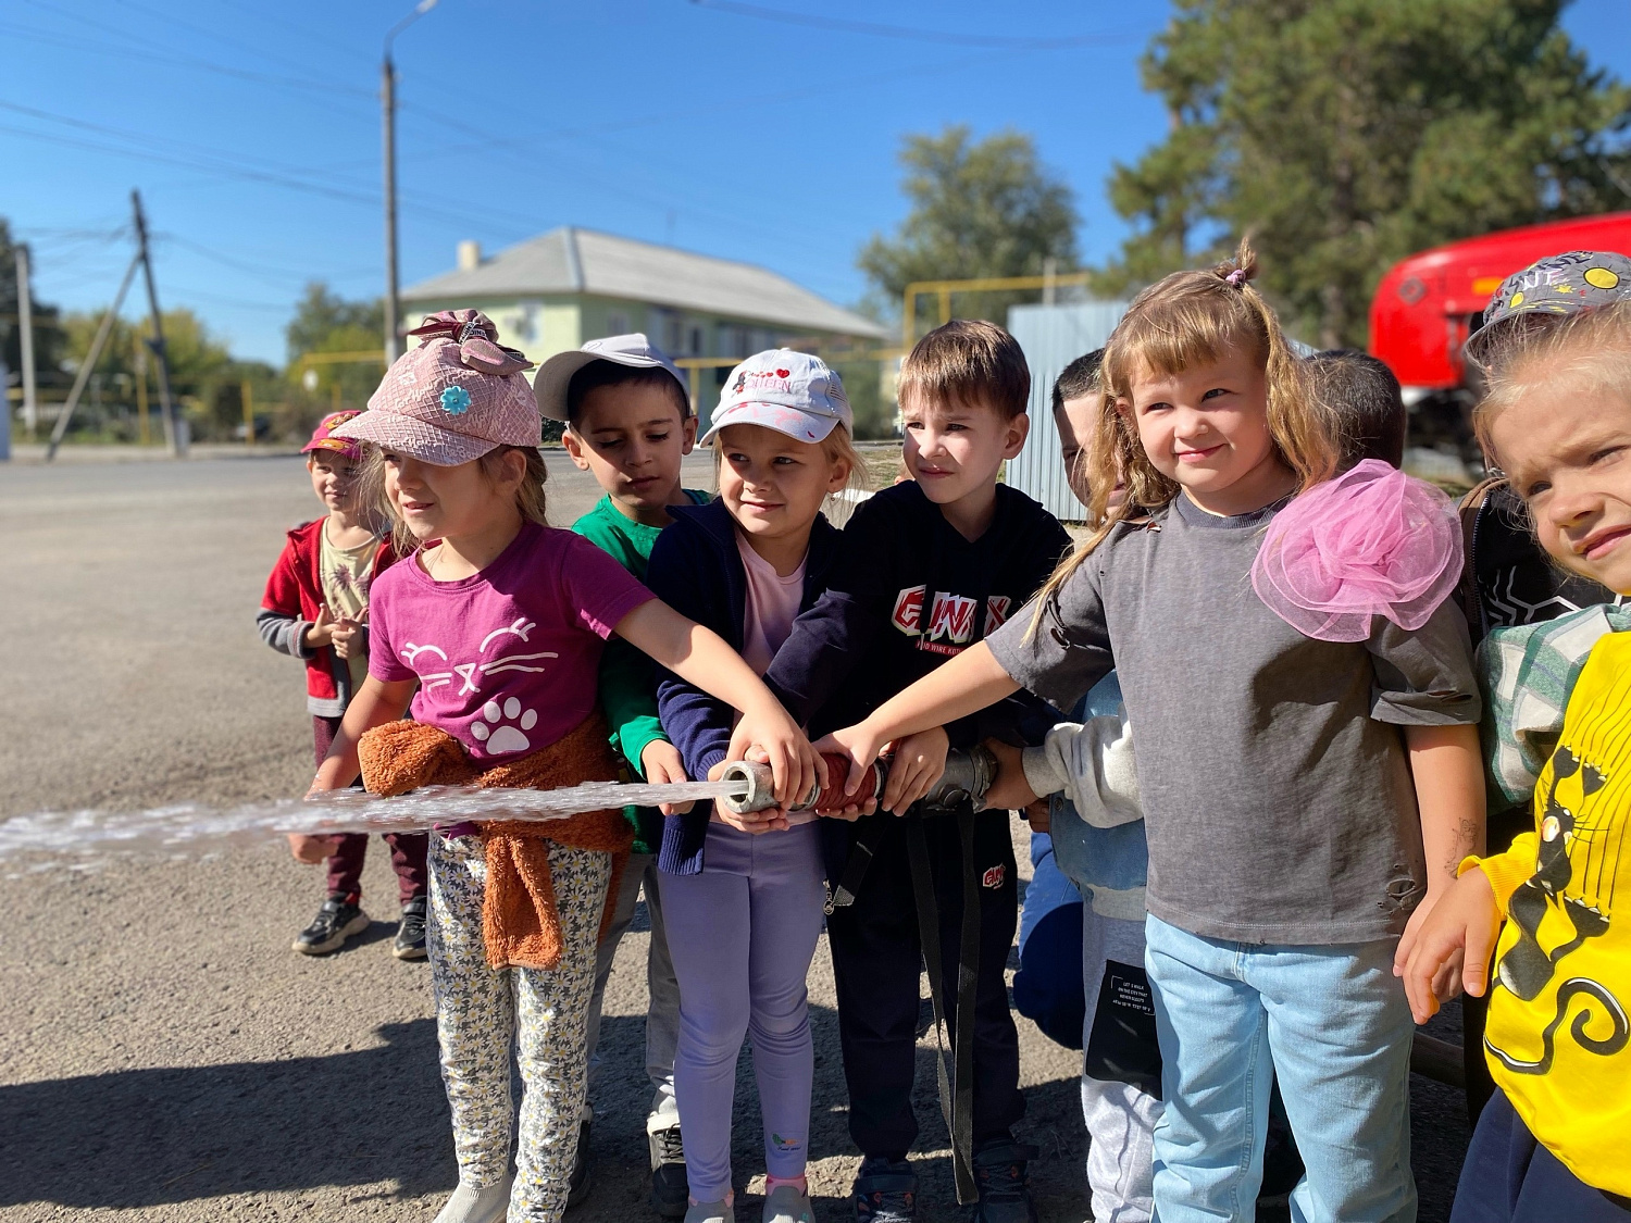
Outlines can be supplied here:
[[[827, 920], [827, 936], [838, 987], [850, 1137], [866, 1156], [902, 1158], [918, 1133], [912, 1083], [923, 954], [907, 856], [907, 820], [887, 814], [868, 819], [882, 822], [882, 837], [855, 903], [833, 912]], [[964, 871], [974, 871], [980, 882], [980, 972], [974, 1011], [975, 1146], [990, 1138], [1006, 1138], [1008, 1127], [1024, 1115], [1019, 1034], [1008, 1009], [1003, 978], [1019, 916], [1008, 820], [1006, 810], [975, 817], [974, 863], [969, 864], [962, 861], [954, 817], [923, 820], [939, 910], [941, 996], [948, 1022], [954, 1021], [957, 1000]]]

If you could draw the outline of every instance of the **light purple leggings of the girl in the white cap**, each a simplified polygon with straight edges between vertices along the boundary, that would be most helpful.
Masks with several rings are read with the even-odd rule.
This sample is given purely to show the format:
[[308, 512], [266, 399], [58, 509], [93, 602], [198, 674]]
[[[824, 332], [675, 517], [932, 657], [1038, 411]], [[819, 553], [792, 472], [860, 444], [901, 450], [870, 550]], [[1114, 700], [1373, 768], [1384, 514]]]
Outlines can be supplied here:
[[742, 1037], [765, 1119], [765, 1169], [802, 1176], [811, 1128], [811, 1045], [804, 977], [822, 921], [817, 825], [760, 835], [708, 825], [701, 874], [662, 877], [669, 954], [680, 982], [674, 1094], [685, 1128], [692, 1197], [731, 1189], [731, 1107]]

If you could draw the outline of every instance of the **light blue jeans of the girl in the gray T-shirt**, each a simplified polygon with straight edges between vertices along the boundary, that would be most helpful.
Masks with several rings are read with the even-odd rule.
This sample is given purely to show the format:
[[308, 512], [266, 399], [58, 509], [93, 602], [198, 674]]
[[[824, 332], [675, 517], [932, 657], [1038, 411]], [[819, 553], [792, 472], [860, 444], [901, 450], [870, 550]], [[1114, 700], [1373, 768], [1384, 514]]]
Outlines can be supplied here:
[[1251, 1220], [1269, 1091], [1308, 1168], [1295, 1223], [1411, 1223], [1411, 1013], [1396, 939], [1261, 946], [1145, 923], [1165, 1110], [1161, 1223]]

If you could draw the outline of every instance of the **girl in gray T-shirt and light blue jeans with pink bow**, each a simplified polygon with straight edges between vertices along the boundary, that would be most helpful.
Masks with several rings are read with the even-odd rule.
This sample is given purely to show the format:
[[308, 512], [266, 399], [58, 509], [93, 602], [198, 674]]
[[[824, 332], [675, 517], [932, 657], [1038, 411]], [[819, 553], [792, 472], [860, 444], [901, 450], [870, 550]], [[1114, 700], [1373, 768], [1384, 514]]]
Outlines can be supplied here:
[[[1293, 1216], [1404, 1220], [1393, 951], [1481, 827], [1478, 693], [1443, 603], [1458, 536], [1435, 494], [1381, 465], [1319, 488], [1337, 448], [1253, 272], [1243, 243], [1134, 300], [1090, 448], [1104, 525], [1032, 608], [824, 742], [868, 762], [1019, 687], [1068, 708], [1114, 665], [1150, 853], [1156, 1213], [1249, 1213], [1275, 1076], [1308, 1164]], [[1297, 563], [1321, 536], [1333, 566]]]

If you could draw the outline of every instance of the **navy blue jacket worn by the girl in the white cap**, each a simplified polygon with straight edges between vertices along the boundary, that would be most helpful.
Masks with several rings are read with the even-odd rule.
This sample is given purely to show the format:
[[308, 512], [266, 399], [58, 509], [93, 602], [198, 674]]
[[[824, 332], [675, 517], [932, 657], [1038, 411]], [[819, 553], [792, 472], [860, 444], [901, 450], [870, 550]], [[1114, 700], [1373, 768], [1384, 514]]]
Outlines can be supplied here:
[[[664, 528], [651, 550], [646, 585], [682, 616], [711, 628], [731, 649], [742, 651], [747, 620], [747, 571], [736, 548], [736, 523], [724, 502], [670, 506], [674, 525]], [[816, 603], [827, 587], [827, 576], [838, 554], [840, 535], [825, 517], [816, 515], [811, 550], [804, 559], [804, 597], [799, 610]], [[678, 748], [687, 775], [706, 778], [726, 757], [736, 711], [670, 670], [657, 670], [657, 713], [662, 732]], [[703, 869], [709, 804], [700, 802], [685, 815], [669, 815], [662, 823], [657, 866], [670, 874]]]

